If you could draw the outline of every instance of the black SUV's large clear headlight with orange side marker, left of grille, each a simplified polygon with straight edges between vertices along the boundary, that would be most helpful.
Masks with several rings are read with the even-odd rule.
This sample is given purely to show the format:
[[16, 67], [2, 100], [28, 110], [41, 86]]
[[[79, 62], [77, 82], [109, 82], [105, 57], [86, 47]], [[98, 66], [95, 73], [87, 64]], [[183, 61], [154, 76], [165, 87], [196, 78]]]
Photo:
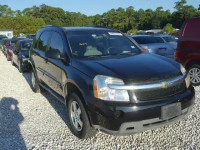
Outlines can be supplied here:
[[128, 102], [129, 95], [127, 90], [116, 90], [109, 88], [108, 85], [124, 85], [123, 80], [103, 75], [94, 78], [94, 96], [106, 101]]

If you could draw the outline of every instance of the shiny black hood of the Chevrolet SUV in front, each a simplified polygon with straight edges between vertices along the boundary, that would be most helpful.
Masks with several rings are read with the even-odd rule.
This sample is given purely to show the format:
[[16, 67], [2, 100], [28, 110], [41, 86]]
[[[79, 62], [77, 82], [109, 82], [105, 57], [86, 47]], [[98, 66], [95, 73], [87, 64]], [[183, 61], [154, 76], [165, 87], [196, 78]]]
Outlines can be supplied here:
[[180, 65], [174, 60], [149, 53], [128, 57], [74, 60], [72, 66], [91, 78], [106, 75], [123, 79], [128, 83], [160, 81], [181, 74]]

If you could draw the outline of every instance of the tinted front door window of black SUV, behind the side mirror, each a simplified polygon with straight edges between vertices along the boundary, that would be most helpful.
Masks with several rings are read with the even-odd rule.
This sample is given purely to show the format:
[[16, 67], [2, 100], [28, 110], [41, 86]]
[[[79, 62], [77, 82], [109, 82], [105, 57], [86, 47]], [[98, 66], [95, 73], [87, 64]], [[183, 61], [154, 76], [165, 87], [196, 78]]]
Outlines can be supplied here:
[[63, 52], [63, 40], [59, 33], [53, 32], [49, 49], [56, 49], [59, 50], [61, 53]]

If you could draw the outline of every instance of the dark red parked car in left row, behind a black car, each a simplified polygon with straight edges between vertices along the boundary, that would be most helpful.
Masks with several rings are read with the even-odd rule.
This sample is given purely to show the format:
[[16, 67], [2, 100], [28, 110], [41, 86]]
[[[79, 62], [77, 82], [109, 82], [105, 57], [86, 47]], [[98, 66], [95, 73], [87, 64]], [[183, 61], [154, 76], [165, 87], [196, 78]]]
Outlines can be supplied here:
[[13, 39], [8, 40], [7, 49], [5, 51], [6, 52], [6, 58], [7, 58], [8, 61], [11, 60], [13, 48], [14, 48], [15, 44], [17, 43], [17, 41], [23, 40], [23, 39], [24, 38], [18, 37], [18, 38], [13, 38]]

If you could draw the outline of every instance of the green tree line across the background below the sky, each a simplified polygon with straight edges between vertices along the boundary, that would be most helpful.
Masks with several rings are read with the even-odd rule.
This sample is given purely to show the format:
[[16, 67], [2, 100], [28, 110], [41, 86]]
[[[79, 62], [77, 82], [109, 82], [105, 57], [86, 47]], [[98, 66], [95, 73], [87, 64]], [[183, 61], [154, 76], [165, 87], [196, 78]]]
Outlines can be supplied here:
[[163, 7], [158, 7], [156, 10], [135, 10], [130, 6], [126, 9], [121, 7], [111, 9], [101, 15], [86, 16], [45, 4], [22, 11], [13, 11], [7, 5], [0, 5], [0, 29], [13, 29], [15, 35], [36, 33], [44, 25], [107, 26], [129, 33], [164, 28], [167, 32], [172, 32], [173, 28], [180, 29], [186, 19], [200, 16], [200, 12], [193, 6], [187, 5], [186, 0], [175, 2], [174, 9], [174, 12], [163, 10]]

